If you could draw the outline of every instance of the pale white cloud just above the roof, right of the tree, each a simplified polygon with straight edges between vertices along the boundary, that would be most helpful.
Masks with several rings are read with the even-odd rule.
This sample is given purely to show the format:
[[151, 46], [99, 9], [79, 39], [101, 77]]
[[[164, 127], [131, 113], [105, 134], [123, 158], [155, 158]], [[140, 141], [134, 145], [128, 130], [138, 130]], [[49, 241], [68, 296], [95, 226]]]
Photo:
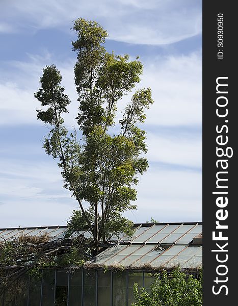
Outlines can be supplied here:
[[138, 185], [138, 210], [125, 215], [134, 222], [202, 220], [202, 173], [151, 167]]

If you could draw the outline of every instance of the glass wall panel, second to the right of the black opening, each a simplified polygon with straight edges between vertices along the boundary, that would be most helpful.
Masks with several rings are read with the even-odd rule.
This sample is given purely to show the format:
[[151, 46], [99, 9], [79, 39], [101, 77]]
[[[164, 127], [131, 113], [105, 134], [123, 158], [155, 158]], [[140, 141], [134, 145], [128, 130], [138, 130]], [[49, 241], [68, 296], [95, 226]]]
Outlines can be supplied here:
[[84, 270], [84, 306], [96, 304], [96, 271]]

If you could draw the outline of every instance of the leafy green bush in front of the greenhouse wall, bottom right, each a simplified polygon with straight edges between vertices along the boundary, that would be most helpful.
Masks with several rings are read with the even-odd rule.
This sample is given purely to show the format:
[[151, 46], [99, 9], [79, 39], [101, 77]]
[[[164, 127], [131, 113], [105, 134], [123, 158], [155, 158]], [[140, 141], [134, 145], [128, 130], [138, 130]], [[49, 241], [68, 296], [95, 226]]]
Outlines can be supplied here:
[[142, 288], [139, 294], [136, 283], [134, 296], [137, 302], [132, 306], [202, 306], [202, 274], [196, 279], [179, 267], [170, 274], [162, 271], [156, 274], [151, 293]]

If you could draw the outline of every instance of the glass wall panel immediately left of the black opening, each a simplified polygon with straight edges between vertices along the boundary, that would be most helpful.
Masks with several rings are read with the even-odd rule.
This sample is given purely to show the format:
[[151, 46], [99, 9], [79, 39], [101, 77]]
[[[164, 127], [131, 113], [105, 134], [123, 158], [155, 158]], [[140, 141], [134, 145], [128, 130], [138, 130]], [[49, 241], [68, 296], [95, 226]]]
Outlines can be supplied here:
[[55, 271], [44, 271], [42, 306], [53, 306], [55, 300]]

